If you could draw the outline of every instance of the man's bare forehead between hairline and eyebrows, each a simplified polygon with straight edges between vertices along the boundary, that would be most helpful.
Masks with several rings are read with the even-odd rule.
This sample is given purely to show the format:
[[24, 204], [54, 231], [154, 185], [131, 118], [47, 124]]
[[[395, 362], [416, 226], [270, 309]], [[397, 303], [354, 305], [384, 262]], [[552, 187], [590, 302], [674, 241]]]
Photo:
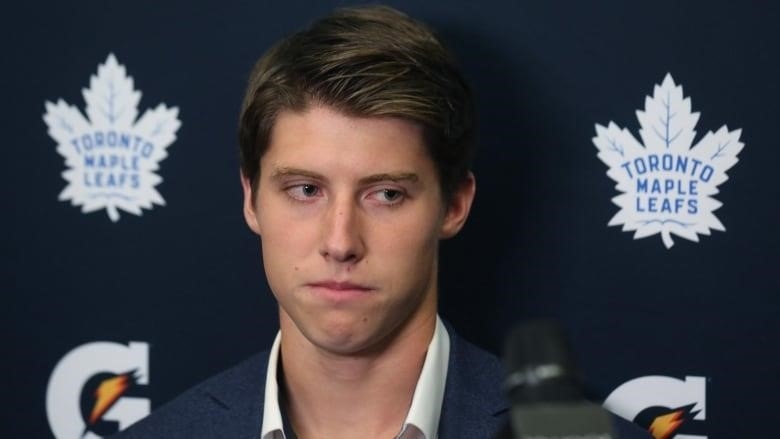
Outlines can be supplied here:
[[282, 111], [261, 167], [436, 174], [421, 125], [395, 117], [350, 116], [324, 105]]

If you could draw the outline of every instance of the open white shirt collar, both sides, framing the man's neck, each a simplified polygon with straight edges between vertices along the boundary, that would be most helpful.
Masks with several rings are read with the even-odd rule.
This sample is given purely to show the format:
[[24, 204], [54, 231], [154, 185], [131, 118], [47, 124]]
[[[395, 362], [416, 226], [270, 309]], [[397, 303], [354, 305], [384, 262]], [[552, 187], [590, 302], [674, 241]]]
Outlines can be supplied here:
[[[279, 408], [279, 384], [276, 381], [276, 368], [279, 363], [281, 331], [276, 334], [274, 344], [268, 356], [268, 370], [265, 375], [265, 404], [262, 439], [285, 439], [282, 424], [282, 412]], [[447, 365], [450, 358], [450, 336], [447, 328], [436, 316], [436, 328], [428, 344], [428, 352], [414, 388], [412, 404], [406, 414], [399, 439], [424, 438], [436, 439], [439, 430], [439, 417], [444, 401], [444, 385], [447, 382]]]

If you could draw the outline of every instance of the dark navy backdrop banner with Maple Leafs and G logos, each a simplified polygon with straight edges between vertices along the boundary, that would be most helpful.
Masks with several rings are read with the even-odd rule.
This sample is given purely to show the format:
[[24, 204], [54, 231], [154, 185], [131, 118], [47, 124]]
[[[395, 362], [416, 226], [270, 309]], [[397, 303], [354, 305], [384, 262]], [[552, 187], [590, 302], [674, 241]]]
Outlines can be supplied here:
[[[442, 315], [497, 354], [559, 319], [589, 396], [658, 438], [772, 436], [778, 7], [391, 3], [479, 106]], [[5, 6], [0, 436], [104, 437], [270, 346], [239, 105], [273, 42], [345, 4]]]

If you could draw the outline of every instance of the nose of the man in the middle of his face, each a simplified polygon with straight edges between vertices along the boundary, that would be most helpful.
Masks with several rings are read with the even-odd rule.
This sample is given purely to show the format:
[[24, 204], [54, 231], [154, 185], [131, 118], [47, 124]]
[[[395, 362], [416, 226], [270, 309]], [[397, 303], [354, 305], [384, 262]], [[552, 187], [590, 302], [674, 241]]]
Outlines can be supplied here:
[[351, 197], [334, 200], [323, 221], [320, 254], [326, 260], [355, 264], [363, 259], [365, 243], [360, 212]]

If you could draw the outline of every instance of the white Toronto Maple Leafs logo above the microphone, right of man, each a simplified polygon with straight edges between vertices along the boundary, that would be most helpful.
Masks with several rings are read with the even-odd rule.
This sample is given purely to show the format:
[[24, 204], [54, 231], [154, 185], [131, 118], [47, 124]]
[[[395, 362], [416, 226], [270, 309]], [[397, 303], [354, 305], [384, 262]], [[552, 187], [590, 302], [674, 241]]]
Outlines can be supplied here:
[[636, 114], [641, 143], [614, 122], [596, 124], [598, 157], [622, 192], [612, 199], [621, 209], [608, 224], [622, 224], [634, 239], [660, 233], [666, 248], [674, 245], [672, 234], [698, 242], [698, 234], [725, 231], [713, 213], [722, 205], [713, 195], [738, 161], [742, 130], [724, 125], [693, 145], [699, 113], [691, 112], [691, 99], [670, 74]]

